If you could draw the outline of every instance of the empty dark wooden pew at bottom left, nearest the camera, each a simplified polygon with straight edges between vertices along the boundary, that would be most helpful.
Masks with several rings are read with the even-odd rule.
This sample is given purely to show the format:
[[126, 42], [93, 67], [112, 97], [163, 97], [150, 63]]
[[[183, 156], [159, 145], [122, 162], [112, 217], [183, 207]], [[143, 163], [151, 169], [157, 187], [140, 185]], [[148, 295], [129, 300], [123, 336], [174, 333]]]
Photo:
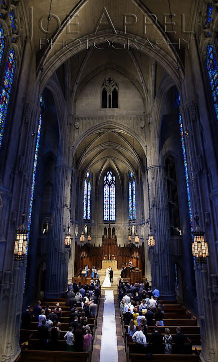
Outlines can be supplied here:
[[89, 352], [39, 351], [24, 349], [19, 362], [91, 362]]

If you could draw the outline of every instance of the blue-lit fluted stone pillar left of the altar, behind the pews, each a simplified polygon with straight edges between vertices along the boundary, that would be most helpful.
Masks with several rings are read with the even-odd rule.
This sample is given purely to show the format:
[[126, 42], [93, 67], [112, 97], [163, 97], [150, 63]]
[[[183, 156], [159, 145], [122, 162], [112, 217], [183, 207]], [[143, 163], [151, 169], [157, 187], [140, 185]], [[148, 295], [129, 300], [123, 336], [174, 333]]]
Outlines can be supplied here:
[[67, 290], [69, 249], [64, 246], [68, 225], [69, 196], [72, 167], [58, 165], [55, 168], [53, 213], [49, 252], [47, 258], [46, 298], [61, 298]]

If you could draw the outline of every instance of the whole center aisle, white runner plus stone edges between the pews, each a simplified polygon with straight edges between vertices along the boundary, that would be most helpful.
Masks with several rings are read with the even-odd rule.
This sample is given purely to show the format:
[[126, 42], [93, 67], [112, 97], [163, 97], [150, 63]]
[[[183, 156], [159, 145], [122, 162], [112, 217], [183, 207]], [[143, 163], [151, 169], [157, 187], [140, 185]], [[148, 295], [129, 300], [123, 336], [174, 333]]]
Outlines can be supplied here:
[[112, 290], [102, 290], [92, 362], [126, 361], [119, 315], [116, 294], [114, 300]]

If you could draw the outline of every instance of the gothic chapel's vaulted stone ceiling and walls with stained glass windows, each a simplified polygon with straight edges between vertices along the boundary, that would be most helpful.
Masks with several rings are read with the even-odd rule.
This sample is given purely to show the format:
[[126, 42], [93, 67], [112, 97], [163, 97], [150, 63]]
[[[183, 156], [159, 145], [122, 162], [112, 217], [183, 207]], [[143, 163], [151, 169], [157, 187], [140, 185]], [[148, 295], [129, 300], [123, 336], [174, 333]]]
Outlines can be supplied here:
[[188, 306], [218, 361], [217, 34], [217, 0], [1, 1], [1, 361], [22, 310], [109, 253]]

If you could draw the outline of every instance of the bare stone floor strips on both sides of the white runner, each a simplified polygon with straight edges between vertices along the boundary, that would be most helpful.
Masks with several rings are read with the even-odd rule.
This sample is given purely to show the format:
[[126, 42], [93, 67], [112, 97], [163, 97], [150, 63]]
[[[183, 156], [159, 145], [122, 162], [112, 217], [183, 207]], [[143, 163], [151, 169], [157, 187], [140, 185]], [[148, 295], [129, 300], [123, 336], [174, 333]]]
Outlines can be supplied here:
[[[114, 290], [113, 293], [114, 293], [115, 320], [116, 320], [116, 333], [117, 333], [118, 362], [126, 362], [126, 354], [125, 354], [125, 347], [124, 347], [124, 343], [123, 343], [122, 326], [121, 326], [121, 320], [120, 320], [119, 301], [117, 298], [116, 290]], [[92, 362], [100, 361], [104, 297], [105, 297], [105, 291], [102, 290], [101, 301], [100, 301], [99, 312], [98, 312], [97, 329], [95, 332], [95, 342], [94, 342], [94, 346], [93, 346]], [[105, 359], [104, 362], [109, 362], [109, 361], [113, 362], [111, 360], [110, 355], [108, 356], [108, 360]]]

